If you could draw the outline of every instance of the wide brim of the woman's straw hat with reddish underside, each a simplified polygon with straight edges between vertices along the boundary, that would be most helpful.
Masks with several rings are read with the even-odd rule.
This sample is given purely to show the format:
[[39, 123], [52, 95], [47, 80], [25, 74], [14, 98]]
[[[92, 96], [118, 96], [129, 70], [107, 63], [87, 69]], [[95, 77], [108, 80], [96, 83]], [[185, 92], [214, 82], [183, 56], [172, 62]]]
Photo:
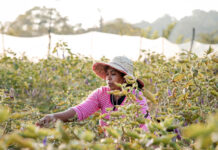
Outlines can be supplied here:
[[[109, 64], [109, 63], [102, 63], [102, 62], [96, 62], [93, 66], [92, 66], [92, 70], [95, 72], [95, 74], [97, 76], [99, 76], [100, 78], [106, 80], [106, 67], [111, 67], [119, 72], [122, 72], [124, 74], [127, 75], [127, 73], [125, 71], [123, 71], [122, 68], [119, 68], [119, 66], [117, 65], [113, 65], [113, 64]], [[133, 76], [133, 75], [131, 75]], [[143, 88], [144, 87], [144, 83], [142, 80], [137, 79], [137, 82], [139, 85], [139, 87]]]

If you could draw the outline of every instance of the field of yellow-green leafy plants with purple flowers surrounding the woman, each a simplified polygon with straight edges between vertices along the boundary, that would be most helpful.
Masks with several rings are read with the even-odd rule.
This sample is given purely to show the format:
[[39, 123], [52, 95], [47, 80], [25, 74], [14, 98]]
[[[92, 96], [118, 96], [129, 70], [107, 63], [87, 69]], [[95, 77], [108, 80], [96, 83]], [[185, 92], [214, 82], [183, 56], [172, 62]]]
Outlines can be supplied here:
[[[1, 56], [0, 150], [218, 149], [218, 59], [211, 56], [213, 49], [205, 50], [203, 58], [184, 52], [168, 60], [142, 51], [134, 62], [135, 75], [145, 83], [151, 120], [136, 117], [137, 95], [126, 93], [132, 104], [112, 112], [105, 129], [98, 125], [104, 118], [99, 112], [82, 122], [58, 121], [38, 128], [35, 123], [45, 114], [75, 106], [106, 85], [92, 72], [95, 60], [68, 52], [62, 59], [34, 63], [26, 57]], [[139, 128], [141, 123], [149, 131]]]

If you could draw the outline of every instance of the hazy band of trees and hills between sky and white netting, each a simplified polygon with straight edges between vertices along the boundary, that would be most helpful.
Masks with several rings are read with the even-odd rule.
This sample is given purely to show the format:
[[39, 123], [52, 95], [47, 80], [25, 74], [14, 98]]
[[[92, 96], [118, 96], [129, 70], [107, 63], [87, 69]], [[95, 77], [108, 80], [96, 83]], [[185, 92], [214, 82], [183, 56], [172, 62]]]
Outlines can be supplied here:
[[196, 29], [196, 40], [207, 44], [218, 43], [218, 12], [193, 11], [193, 14], [181, 20], [164, 15], [153, 23], [142, 21], [130, 24], [118, 18], [104, 22], [101, 16], [99, 27], [83, 29], [82, 24], [70, 25], [68, 18], [54, 8], [34, 7], [19, 15], [13, 22], [1, 23], [1, 33], [14, 36], [41, 36], [48, 33], [81, 34], [90, 31], [113, 33], [119, 35], [141, 36], [156, 39], [160, 36], [173, 42], [182, 43], [191, 39], [192, 28]]

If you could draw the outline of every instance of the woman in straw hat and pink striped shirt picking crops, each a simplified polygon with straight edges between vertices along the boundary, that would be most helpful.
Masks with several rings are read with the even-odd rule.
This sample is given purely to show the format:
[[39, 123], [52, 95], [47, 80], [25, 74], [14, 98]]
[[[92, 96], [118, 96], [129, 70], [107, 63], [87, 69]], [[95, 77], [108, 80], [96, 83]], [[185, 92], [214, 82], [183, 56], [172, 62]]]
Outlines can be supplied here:
[[[125, 56], [118, 56], [110, 63], [95, 63], [93, 65], [93, 71], [96, 75], [106, 80], [107, 86], [96, 89], [83, 103], [75, 107], [63, 112], [46, 115], [40, 119], [36, 125], [43, 127], [47, 126], [50, 122], [55, 122], [57, 119], [67, 122], [75, 117], [77, 117], [78, 120], [84, 120], [99, 109], [101, 109], [102, 114], [105, 114], [107, 113], [106, 108], [113, 108], [113, 110], [116, 111], [116, 105], [123, 105], [126, 100], [125, 96], [110, 95], [107, 92], [121, 90], [116, 83], [125, 83], [125, 75], [134, 78], [133, 62]], [[143, 88], [144, 83], [139, 79], [137, 79], [137, 82], [139, 88]], [[141, 92], [139, 94], [141, 94]], [[146, 99], [143, 97], [143, 100], [137, 99], [136, 101], [139, 105], [142, 105], [141, 113], [143, 113], [145, 117], [150, 118]], [[105, 118], [109, 119], [110, 116], [107, 115]], [[100, 125], [105, 126], [106, 123], [100, 120]], [[141, 125], [140, 127], [146, 130], [145, 125]]]

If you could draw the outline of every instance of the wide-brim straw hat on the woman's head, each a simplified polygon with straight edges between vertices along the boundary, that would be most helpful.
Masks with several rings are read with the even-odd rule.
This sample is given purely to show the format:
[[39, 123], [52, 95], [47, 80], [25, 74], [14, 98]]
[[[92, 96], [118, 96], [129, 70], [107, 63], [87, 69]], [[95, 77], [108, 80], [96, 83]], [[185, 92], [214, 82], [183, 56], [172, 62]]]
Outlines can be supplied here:
[[[133, 75], [133, 70], [134, 70], [133, 62], [125, 56], [114, 57], [109, 63], [96, 62], [94, 63], [92, 69], [97, 76], [106, 80], [106, 69], [105, 69], [106, 67], [111, 67], [136, 79]], [[138, 84], [140, 84], [139, 87], [143, 88], [144, 83], [140, 79], [137, 79], [137, 81]]]

